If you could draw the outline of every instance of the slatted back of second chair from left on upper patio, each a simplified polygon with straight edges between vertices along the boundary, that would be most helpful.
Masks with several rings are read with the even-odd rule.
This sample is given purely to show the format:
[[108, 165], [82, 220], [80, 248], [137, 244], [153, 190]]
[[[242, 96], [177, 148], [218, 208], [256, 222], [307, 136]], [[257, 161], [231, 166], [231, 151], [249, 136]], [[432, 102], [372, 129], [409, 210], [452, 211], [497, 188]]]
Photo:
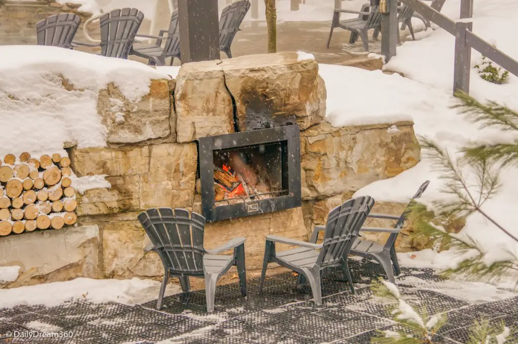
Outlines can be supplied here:
[[100, 17], [101, 55], [127, 59], [143, 19], [136, 8], [114, 9]]

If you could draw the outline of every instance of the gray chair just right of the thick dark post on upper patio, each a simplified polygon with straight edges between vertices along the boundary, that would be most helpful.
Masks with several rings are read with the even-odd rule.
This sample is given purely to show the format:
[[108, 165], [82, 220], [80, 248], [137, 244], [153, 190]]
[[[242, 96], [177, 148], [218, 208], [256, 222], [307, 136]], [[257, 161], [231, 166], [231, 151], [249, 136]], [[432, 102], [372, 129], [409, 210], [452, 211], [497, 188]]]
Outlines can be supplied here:
[[241, 0], [226, 6], [221, 12], [220, 18], [220, 51], [223, 51], [228, 58], [232, 58], [230, 47], [236, 33], [240, 30], [244, 16], [250, 9], [249, 0]]

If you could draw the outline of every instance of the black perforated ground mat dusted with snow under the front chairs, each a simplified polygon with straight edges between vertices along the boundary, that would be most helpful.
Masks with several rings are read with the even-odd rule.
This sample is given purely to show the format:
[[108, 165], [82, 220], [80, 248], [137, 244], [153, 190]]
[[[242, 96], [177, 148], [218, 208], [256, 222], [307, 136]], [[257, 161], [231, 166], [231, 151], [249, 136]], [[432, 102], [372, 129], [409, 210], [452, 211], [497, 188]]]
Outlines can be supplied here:
[[[323, 305], [310, 300], [309, 285], [295, 288], [296, 277], [284, 273], [269, 277], [263, 295], [257, 295], [259, 280], [248, 280], [248, 296], [239, 284], [218, 286], [215, 311], [205, 312], [205, 291], [172, 295], [161, 311], [156, 301], [140, 306], [117, 303], [70, 302], [58, 307], [17, 306], [0, 309], [0, 338], [24, 333], [41, 325], [42, 332], [65, 331], [73, 337], [7, 338], [6, 343], [369, 343], [377, 329], [394, 329], [391, 308], [372, 297], [369, 281], [383, 271], [370, 261], [352, 261], [356, 294], [351, 294], [338, 271], [324, 276]], [[448, 312], [449, 321], [438, 336], [440, 343], [465, 343], [474, 319], [518, 323], [518, 297], [473, 303], [441, 293], [444, 282], [431, 270], [403, 268], [398, 286], [407, 302], [430, 314]], [[462, 284], [458, 290], [462, 292]], [[508, 291], [502, 291], [509, 294]], [[509, 294], [511, 295], [511, 294]], [[30, 325], [27, 325], [30, 324]]]

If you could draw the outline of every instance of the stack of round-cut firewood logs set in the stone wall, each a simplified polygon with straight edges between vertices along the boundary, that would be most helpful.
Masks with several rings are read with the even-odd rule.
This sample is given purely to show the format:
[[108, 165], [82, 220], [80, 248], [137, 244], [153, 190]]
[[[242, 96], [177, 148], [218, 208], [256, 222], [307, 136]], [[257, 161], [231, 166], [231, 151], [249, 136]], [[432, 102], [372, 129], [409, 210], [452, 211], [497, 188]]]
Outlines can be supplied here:
[[60, 154], [40, 159], [22, 153], [0, 160], [0, 236], [59, 229], [76, 223], [76, 191], [70, 159]]

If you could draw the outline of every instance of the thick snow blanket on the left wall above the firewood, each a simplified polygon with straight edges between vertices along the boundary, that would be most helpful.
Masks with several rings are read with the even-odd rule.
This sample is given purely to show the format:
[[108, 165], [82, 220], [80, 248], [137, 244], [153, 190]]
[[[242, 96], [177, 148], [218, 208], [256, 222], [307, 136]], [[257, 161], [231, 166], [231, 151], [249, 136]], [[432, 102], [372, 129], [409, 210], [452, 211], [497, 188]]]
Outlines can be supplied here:
[[0, 127], [9, 128], [0, 136], [1, 156], [66, 156], [65, 141], [106, 146], [98, 91], [113, 82], [135, 102], [149, 92], [151, 79], [169, 78], [136, 61], [57, 47], [0, 46], [0, 56]]

